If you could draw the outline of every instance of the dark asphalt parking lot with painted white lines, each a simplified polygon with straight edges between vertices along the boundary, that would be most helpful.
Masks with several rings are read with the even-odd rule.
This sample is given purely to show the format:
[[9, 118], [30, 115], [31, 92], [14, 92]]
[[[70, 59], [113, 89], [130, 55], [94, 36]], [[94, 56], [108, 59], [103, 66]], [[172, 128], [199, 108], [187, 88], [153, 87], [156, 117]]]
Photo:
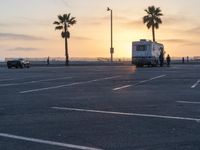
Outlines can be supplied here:
[[199, 150], [200, 65], [0, 68], [0, 150]]

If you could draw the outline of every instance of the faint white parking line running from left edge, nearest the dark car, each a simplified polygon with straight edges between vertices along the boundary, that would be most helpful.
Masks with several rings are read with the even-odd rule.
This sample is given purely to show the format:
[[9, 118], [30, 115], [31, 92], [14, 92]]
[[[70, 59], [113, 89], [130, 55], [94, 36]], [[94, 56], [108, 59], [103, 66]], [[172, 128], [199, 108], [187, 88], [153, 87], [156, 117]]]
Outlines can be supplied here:
[[27, 81], [27, 82], [21, 82], [21, 83], [6, 83], [6, 84], [0, 84], [0, 87], [33, 84], [33, 83], [40, 83], [40, 82], [49, 82], [49, 81], [64, 80], [64, 79], [71, 79], [71, 78], [72, 77], [62, 77], [62, 78], [54, 78], [54, 79], [33, 80], [33, 81]]

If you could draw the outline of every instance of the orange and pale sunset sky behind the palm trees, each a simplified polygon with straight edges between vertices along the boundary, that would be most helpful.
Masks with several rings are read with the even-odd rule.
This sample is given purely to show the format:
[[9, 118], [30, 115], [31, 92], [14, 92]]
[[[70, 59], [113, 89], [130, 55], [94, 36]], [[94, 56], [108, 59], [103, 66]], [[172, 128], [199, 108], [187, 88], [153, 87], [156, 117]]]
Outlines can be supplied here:
[[114, 57], [131, 57], [132, 41], [152, 39], [142, 18], [148, 6], [160, 7], [163, 24], [156, 41], [172, 57], [200, 56], [199, 0], [1, 0], [0, 59], [64, 57], [64, 40], [55, 31], [58, 15], [71, 13], [70, 57], [110, 57], [113, 10]]

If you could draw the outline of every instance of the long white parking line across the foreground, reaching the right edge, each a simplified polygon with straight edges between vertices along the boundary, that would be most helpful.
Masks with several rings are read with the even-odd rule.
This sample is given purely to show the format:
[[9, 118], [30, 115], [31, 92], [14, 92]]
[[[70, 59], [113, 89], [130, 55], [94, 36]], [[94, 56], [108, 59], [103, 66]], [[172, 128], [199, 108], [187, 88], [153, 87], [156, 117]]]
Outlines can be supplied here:
[[57, 109], [57, 110], [66, 110], [66, 111], [78, 111], [78, 112], [100, 113], [100, 114], [110, 114], [110, 115], [120, 115], [120, 116], [135, 116], [135, 117], [160, 118], [160, 119], [185, 120], [185, 121], [200, 122], [200, 118], [174, 117], [174, 116], [162, 116], [162, 115], [139, 114], [139, 113], [124, 113], [124, 112], [89, 110], [89, 109], [67, 108], [67, 107], [51, 107], [51, 108]]

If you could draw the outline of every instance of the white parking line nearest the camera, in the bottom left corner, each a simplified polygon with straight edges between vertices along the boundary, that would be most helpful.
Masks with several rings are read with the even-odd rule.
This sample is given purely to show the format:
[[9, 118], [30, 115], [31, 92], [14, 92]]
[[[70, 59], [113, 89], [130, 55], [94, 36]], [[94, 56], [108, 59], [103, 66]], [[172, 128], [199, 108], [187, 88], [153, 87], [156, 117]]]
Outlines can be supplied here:
[[72, 148], [72, 149], [78, 149], [78, 150], [102, 150], [99, 148], [92, 148], [92, 147], [86, 147], [86, 146], [80, 146], [80, 145], [74, 145], [74, 144], [60, 143], [60, 142], [54, 142], [54, 141], [48, 141], [48, 140], [42, 140], [42, 139], [36, 139], [36, 138], [30, 138], [30, 137], [24, 137], [24, 136], [17, 136], [17, 135], [6, 134], [6, 133], [0, 133], [0, 137], [28, 141], [28, 142], [33, 142], [33, 143], [52, 145], [52, 146], [65, 147], [65, 148]]

